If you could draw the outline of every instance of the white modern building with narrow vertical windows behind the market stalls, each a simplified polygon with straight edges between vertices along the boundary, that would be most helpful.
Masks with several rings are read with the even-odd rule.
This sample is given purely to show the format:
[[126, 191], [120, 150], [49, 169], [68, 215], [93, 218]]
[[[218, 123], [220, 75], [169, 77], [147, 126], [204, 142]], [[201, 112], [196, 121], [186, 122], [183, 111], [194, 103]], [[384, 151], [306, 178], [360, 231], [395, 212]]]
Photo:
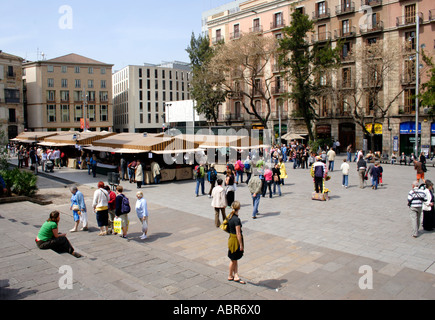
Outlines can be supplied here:
[[175, 61], [130, 65], [115, 72], [115, 132], [162, 132], [166, 103], [190, 99], [190, 71], [189, 64]]

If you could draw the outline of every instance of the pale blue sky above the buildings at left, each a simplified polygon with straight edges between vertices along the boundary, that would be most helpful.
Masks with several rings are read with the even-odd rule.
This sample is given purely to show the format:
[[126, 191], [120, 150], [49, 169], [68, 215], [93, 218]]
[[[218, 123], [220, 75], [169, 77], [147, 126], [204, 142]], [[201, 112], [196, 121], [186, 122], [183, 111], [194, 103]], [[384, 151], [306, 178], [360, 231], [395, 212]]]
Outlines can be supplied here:
[[189, 62], [185, 49], [202, 13], [230, 1], [0, 0], [0, 50], [31, 61], [38, 49], [46, 59], [77, 53], [113, 70]]

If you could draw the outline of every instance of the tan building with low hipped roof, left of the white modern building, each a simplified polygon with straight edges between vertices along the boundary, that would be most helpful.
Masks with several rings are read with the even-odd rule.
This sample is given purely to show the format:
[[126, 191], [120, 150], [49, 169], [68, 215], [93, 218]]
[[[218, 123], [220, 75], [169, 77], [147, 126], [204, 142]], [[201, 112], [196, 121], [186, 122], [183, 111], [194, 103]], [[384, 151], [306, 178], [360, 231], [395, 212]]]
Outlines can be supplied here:
[[111, 131], [112, 64], [78, 54], [23, 64], [30, 131]]

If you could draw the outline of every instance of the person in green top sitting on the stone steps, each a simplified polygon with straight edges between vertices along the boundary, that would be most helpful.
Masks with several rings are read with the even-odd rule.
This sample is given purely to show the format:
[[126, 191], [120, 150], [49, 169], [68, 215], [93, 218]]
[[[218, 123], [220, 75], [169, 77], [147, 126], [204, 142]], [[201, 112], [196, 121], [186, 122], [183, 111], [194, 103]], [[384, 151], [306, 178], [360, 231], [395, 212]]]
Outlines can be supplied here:
[[82, 255], [76, 252], [66, 237], [65, 233], [59, 232], [59, 211], [53, 211], [46, 222], [39, 229], [36, 236], [36, 246], [41, 250], [53, 250], [57, 253], [69, 253], [76, 258]]

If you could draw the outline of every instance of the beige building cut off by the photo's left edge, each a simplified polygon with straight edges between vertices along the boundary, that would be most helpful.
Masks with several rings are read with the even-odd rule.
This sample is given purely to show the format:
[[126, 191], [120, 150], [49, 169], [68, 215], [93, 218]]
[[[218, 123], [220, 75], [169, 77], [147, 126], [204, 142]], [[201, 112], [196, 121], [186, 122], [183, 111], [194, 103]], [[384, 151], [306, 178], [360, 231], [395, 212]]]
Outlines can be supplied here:
[[0, 130], [8, 139], [24, 131], [23, 59], [0, 50]]

